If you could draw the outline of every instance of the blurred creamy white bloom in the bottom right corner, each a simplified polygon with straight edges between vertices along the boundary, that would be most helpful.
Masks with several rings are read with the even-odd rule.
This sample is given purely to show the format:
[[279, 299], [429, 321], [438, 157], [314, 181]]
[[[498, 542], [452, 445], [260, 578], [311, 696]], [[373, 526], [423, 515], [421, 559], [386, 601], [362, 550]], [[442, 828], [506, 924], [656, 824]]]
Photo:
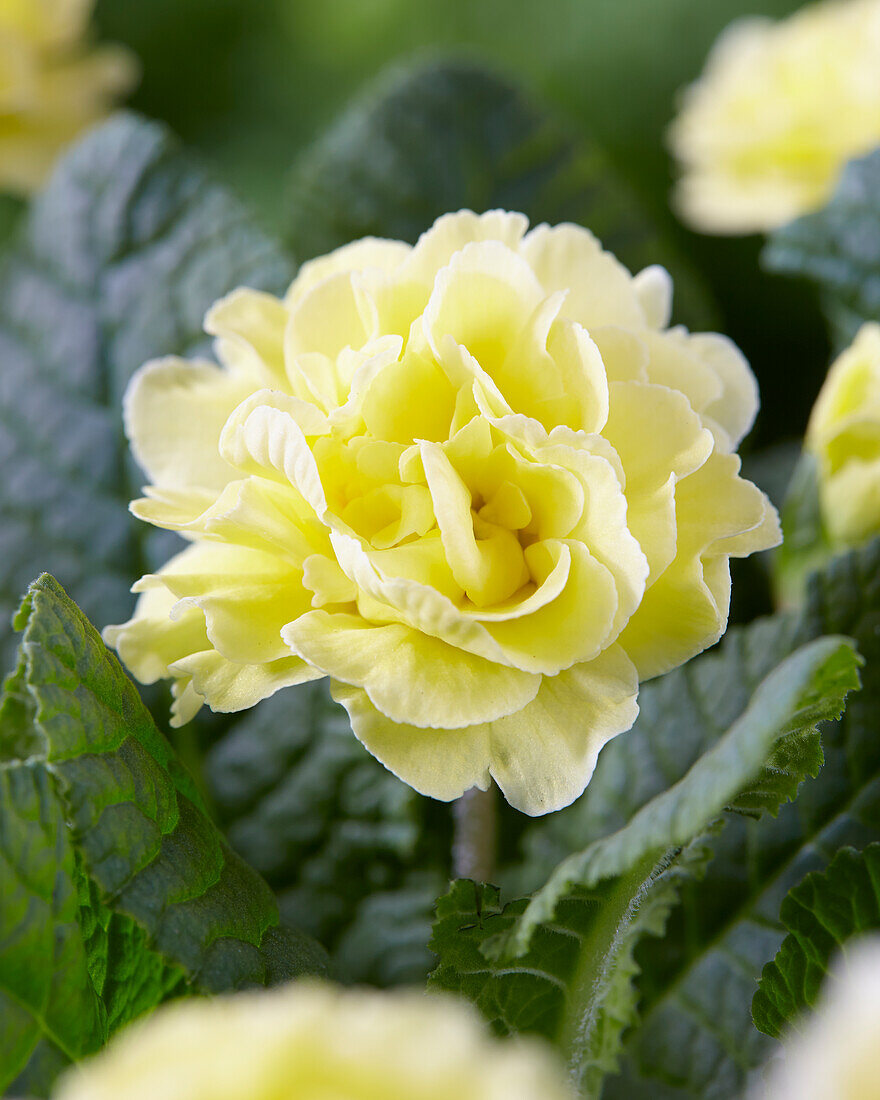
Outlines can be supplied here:
[[880, 937], [847, 948], [754, 1100], [880, 1100]]

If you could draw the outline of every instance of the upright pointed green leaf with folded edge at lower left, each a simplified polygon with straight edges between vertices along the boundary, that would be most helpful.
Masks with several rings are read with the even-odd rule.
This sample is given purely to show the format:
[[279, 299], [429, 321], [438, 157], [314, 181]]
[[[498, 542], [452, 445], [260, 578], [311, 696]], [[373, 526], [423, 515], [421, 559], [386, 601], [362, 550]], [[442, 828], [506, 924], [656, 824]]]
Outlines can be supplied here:
[[168, 996], [323, 964], [279, 924], [272, 891], [53, 578], [31, 585], [15, 622], [21, 660], [0, 705], [0, 1003], [18, 1008], [0, 1013], [0, 1084], [45, 1094], [66, 1062]]

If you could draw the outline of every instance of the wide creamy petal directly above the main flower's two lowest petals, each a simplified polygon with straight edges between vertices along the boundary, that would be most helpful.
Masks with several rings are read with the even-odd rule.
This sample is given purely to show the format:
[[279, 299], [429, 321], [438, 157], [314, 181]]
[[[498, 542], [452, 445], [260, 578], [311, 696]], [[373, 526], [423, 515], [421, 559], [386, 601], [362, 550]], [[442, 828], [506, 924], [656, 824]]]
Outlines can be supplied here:
[[541, 678], [494, 664], [399, 624], [309, 612], [283, 630], [292, 651], [334, 680], [363, 688], [393, 722], [458, 729], [513, 714]]

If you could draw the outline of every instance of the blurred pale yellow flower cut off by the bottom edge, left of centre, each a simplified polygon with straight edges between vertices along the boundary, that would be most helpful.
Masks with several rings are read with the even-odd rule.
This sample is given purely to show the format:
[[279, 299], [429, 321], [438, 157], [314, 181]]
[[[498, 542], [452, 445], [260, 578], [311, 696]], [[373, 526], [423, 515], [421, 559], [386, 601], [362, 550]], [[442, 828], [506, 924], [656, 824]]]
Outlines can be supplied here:
[[295, 982], [160, 1009], [56, 1100], [573, 1100], [549, 1052], [463, 1003]]

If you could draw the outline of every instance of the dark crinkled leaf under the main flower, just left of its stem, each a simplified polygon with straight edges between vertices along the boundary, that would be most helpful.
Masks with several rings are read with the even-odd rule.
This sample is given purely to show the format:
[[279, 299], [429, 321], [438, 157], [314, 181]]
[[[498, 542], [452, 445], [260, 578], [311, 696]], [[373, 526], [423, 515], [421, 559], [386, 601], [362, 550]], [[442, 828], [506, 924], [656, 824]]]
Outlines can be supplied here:
[[284, 919], [327, 945], [340, 978], [424, 980], [446, 807], [367, 754], [324, 682], [241, 716], [208, 751], [205, 779], [232, 847], [275, 889]]

